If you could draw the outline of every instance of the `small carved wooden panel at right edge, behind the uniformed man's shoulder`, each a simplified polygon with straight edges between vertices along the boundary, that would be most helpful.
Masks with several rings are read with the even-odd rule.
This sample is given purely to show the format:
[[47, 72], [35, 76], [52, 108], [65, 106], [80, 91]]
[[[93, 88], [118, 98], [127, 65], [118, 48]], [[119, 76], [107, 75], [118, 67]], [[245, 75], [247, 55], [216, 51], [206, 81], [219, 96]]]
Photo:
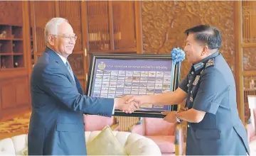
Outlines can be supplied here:
[[256, 48], [243, 48], [242, 55], [243, 69], [256, 70]]

